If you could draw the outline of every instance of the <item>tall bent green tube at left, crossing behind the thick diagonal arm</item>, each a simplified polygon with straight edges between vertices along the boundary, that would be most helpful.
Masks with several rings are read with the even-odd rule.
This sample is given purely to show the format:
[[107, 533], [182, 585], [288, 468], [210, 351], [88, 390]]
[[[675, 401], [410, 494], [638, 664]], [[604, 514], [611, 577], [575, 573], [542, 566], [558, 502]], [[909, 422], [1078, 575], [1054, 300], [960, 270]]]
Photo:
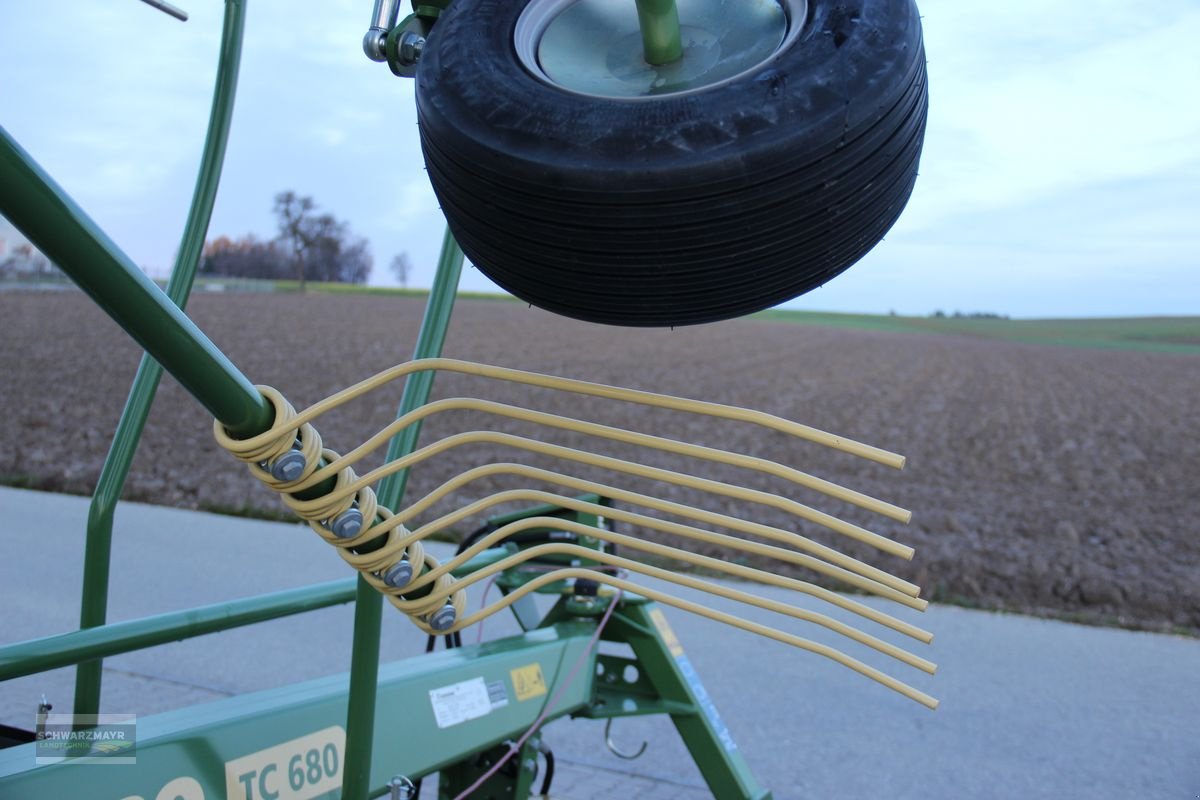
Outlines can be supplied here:
[[[184, 227], [175, 265], [167, 283], [167, 297], [184, 308], [192, 291], [196, 269], [200, 261], [204, 237], [212, 217], [221, 166], [224, 162], [226, 144], [229, 140], [229, 124], [233, 119], [234, 97], [238, 90], [238, 68], [241, 62], [242, 32], [245, 30], [246, 4], [244, 0], [226, 0], [224, 24], [221, 35], [221, 52], [217, 56], [217, 77], [212, 89], [212, 107], [204, 150], [200, 155], [199, 174], [192, 193], [192, 205]], [[145, 427], [162, 378], [162, 366], [149, 355], [142, 356], [133, 378], [125, 410], [113, 435], [108, 456], [100, 473], [96, 491], [88, 510], [88, 539], [84, 545], [83, 597], [79, 608], [79, 627], [90, 628], [104, 624], [108, 616], [108, 578], [113, 545], [113, 513], [125, 488], [130, 464], [137, 452], [142, 429]], [[80, 663], [76, 669], [74, 712], [98, 714], [102, 661]]]

